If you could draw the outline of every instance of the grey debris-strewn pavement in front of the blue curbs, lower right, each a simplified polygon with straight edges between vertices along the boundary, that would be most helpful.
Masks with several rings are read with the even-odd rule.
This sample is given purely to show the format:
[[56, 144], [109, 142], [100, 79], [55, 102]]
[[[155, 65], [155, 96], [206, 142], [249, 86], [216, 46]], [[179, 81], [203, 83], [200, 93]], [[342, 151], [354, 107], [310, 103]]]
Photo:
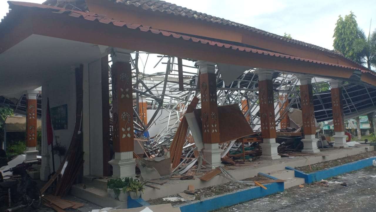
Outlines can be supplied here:
[[[291, 187], [280, 194], [248, 201], [216, 212], [376, 212], [376, 167], [338, 176], [338, 179], [327, 179], [347, 183], [329, 184], [324, 187], [318, 184], [305, 184], [304, 188]], [[365, 177], [365, 178], [358, 178]]]

